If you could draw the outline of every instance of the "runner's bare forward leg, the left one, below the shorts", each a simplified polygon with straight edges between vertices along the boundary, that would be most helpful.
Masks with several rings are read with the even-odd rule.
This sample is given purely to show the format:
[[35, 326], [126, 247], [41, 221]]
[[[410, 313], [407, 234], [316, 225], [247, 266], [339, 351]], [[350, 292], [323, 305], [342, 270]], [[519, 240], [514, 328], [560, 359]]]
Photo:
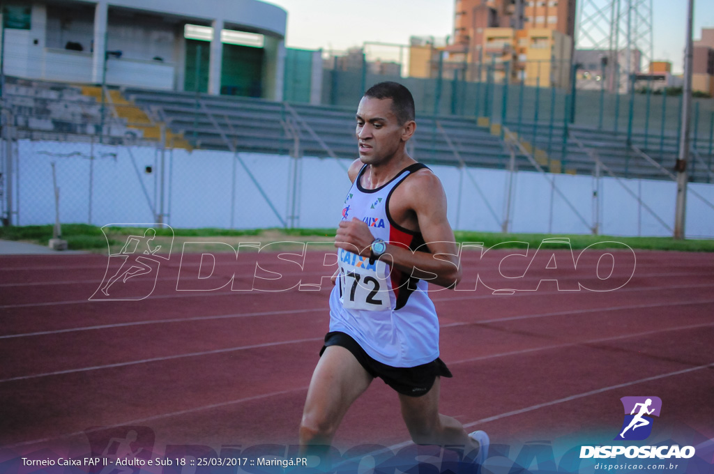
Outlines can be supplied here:
[[303, 450], [311, 445], [332, 443], [348, 408], [367, 390], [371, 381], [372, 376], [346, 348], [329, 346], [325, 349], [313, 372], [300, 423]]

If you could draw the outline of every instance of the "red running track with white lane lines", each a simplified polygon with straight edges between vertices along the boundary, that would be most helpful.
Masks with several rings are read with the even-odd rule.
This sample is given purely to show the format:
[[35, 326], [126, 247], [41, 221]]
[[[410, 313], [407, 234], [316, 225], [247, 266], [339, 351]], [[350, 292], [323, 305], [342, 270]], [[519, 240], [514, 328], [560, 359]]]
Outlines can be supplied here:
[[[506, 253], [492, 254], [481, 262], [465, 254], [466, 283], [475, 285], [477, 273], [483, 281], [505, 281], [494, 262]], [[441, 357], [454, 375], [441, 384], [442, 413], [488, 430], [493, 443], [583, 431], [614, 436], [623, 419], [619, 398], [655, 395], [663, 415], [653, 433], [686, 427], [712, 438], [714, 255], [636, 251], [631, 279], [626, 252], [613, 255], [624, 263], [615, 264], [609, 280], [603, 280], [610, 273], [606, 259], [599, 277], [597, 259], [583, 259], [577, 274], [556, 278], [560, 288], [620, 281], [614, 291], [558, 291], [543, 281], [538, 291], [512, 295], [482, 286], [434, 292]], [[569, 255], [556, 256], [562, 268]], [[274, 254], [268, 260], [261, 267], [283, 273], [283, 283], [319, 281], [317, 266], [301, 276], [294, 263]], [[89, 301], [106, 261], [0, 257], [0, 450], [81, 446], [85, 430], [122, 426], [146, 427], [164, 445], [296, 443], [328, 329], [330, 285], [176, 291], [179, 267], [188, 272], [183, 277], [195, 274], [200, 257], [172, 256], [161, 263], [155, 288], [154, 274], [111, 288], [119, 297], [148, 288], [148, 298]], [[218, 258], [203, 289], [233, 274], [234, 286], [245, 288], [253, 266]], [[518, 258], [501, 265], [506, 275], [523, 270]], [[553, 272], [529, 268], [518, 285], [534, 289]], [[336, 445], [396, 446], [408, 439], [396, 395], [376, 380], [346, 415]]]

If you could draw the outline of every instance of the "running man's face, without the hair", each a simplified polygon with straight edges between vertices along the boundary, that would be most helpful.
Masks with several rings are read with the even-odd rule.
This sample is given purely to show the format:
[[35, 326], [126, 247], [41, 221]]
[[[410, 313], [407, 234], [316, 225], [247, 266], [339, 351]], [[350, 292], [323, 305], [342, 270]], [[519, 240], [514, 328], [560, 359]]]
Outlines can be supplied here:
[[407, 123], [399, 125], [392, 99], [363, 97], [357, 108], [359, 156], [363, 163], [381, 163], [398, 151]]

